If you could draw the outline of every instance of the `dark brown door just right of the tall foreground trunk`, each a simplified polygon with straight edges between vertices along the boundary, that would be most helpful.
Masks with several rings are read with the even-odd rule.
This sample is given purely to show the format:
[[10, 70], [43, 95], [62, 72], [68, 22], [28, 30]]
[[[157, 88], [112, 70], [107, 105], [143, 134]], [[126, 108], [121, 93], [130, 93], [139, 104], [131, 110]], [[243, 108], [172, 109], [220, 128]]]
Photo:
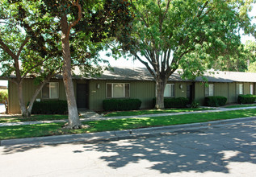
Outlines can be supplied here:
[[77, 84], [78, 109], [88, 109], [89, 87], [88, 84]]

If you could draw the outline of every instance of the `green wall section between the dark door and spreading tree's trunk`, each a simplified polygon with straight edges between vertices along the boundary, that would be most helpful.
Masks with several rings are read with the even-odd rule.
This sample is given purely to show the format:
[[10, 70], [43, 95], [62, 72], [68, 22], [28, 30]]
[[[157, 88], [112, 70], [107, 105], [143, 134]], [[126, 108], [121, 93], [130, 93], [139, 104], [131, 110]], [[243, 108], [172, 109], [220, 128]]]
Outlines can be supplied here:
[[[89, 109], [103, 109], [103, 100], [107, 99], [107, 83], [129, 83], [130, 98], [140, 99], [142, 101], [141, 109], [153, 107], [152, 99], [155, 97], [155, 83], [153, 81], [90, 80]], [[97, 84], [99, 84], [99, 88], [97, 88]]]

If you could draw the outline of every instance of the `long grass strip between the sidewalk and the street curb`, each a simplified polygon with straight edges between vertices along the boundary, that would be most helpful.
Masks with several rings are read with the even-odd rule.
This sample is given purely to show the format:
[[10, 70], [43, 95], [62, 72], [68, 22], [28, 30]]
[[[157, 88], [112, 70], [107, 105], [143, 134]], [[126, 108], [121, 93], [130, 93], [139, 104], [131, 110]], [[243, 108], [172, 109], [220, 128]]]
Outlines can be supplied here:
[[238, 117], [254, 117], [255, 115], [256, 109], [243, 109], [219, 113], [192, 113], [163, 117], [141, 117], [105, 121], [86, 121], [83, 123], [89, 125], [90, 127], [81, 130], [61, 129], [61, 126], [63, 126], [64, 123], [51, 123], [30, 126], [5, 126], [0, 127], [0, 139], [31, 138], [57, 134], [82, 134], [111, 130], [129, 130], [143, 127], [171, 126], [195, 122], [216, 121]]

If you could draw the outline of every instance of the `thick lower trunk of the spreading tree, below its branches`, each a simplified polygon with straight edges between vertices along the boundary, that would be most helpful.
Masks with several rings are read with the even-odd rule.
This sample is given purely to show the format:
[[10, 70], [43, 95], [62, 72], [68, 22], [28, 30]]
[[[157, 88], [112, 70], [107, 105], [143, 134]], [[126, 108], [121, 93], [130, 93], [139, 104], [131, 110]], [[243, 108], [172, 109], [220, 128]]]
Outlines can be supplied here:
[[162, 80], [161, 78], [157, 78], [156, 80], [156, 87], [157, 87], [157, 93], [156, 93], [156, 105], [155, 109], [164, 109], [164, 93], [166, 88], [167, 80]]

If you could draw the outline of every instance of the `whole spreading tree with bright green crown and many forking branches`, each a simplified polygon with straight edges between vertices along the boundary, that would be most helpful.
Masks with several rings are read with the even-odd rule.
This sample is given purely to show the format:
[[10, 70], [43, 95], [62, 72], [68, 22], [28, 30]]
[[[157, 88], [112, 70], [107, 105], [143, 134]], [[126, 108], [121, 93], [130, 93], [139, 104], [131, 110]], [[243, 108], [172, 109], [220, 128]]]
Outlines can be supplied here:
[[164, 108], [164, 90], [171, 74], [183, 68], [193, 79], [215, 60], [240, 46], [239, 30], [254, 33], [247, 15], [253, 1], [137, 0], [129, 43], [122, 49], [141, 61], [156, 81], [156, 108]]

